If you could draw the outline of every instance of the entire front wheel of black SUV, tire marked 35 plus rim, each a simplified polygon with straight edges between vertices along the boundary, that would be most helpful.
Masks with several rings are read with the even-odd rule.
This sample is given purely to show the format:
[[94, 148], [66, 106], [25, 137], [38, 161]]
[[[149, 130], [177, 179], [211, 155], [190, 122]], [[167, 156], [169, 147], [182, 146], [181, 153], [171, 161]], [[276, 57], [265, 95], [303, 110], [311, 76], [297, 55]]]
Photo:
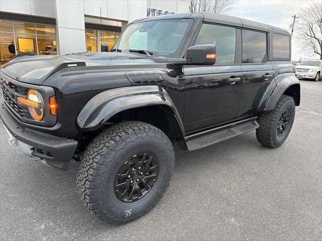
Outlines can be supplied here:
[[99, 219], [121, 224], [148, 212], [164, 195], [174, 168], [169, 138], [142, 122], [123, 122], [94, 138], [77, 173], [78, 193]]

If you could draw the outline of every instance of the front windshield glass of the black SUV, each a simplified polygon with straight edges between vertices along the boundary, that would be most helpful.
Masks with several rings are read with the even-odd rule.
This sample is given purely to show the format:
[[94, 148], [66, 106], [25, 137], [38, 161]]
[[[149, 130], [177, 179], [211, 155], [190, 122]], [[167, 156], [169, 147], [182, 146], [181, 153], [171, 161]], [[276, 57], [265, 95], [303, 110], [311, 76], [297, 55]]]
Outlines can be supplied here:
[[151, 52], [153, 57], [176, 58], [192, 23], [192, 19], [134, 23], [126, 27], [112, 49], [146, 50]]

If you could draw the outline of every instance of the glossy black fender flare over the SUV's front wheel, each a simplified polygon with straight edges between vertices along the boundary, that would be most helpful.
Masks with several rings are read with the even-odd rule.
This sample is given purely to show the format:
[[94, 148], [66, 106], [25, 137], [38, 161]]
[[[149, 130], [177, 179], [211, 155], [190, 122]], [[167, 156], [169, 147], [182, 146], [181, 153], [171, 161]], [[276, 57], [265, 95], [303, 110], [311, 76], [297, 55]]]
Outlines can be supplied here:
[[136, 107], [167, 105], [173, 111], [183, 136], [184, 126], [179, 112], [167, 91], [158, 85], [127, 86], [105, 90], [91, 98], [77, 116], [83, 130], [97, 130], [113, 115]]

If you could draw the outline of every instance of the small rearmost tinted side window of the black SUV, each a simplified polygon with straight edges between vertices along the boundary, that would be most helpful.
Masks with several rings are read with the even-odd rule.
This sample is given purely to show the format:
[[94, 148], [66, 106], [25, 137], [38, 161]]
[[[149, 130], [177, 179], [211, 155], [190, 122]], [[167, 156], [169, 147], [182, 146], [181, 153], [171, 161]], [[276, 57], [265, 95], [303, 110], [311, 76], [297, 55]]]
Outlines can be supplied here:
[[289, 37], [281, 34], [273, 34], [273, 58], [289, 58]]

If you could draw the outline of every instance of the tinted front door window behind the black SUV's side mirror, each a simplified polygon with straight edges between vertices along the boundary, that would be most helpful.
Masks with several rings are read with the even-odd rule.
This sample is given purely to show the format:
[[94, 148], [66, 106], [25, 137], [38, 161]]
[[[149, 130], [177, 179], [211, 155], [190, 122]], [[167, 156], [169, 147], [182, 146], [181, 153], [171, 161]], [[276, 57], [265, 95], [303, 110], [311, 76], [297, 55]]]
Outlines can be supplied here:
[[215, 44], [217, 47], [216, 64], [235, 62], [235, 28], [203, 24], [196, 44]]

